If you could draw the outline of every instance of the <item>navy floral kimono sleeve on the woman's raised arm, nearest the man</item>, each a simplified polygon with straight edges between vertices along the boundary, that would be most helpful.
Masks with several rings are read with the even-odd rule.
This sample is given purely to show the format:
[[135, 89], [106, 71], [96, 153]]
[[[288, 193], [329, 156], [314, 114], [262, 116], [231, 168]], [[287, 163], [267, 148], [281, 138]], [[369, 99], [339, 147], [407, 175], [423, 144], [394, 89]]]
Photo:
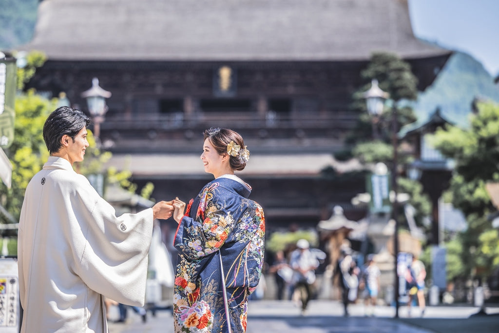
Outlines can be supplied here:
[[222, 196], [213, 191], [203, 196], [196, 218], [184, 216], [175, 234], [175, 248], [191, 259], [217, 252], [236, 224], [233, 207], [223, 202]]

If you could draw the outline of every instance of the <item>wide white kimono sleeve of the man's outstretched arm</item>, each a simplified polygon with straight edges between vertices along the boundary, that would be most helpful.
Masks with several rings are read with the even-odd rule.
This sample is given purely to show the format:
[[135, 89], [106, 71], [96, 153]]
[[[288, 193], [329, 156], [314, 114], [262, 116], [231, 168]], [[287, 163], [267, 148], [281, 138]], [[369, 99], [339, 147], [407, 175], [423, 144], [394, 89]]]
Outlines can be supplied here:
[[[83, 196], [83, 195], [86, 195]], [[95, 200], [88, 209], [88, 200]], [[81, 193], [75, 202], [75, 213], [84, 239], [72, 241], [76, 246], [73, 270], [92, 290], [116, 302], [142, 306], [148, 251], [153, 228], [151, 208], [137, 214], [116, 217], [114, 208], [93, 188]]]

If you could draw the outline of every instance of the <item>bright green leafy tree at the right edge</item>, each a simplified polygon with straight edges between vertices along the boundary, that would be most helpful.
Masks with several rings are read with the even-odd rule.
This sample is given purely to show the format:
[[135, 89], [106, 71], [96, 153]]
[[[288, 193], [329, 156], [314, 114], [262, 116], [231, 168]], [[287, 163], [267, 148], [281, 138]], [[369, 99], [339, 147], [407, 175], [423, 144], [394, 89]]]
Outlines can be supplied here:
[[487, 217], [496, 209], [485, 188], [499, 181], [499, 105], [479, 102], [470, 128], [447, 126], [438, 130], [432, 143], [456, 162], [449, 192], [452, 203], [466, 216], [468, 229], [458, 235], [463, 249], [462, 277], [473, 276], [476, 268], [485, 275], [499, 264], [497, 231]]

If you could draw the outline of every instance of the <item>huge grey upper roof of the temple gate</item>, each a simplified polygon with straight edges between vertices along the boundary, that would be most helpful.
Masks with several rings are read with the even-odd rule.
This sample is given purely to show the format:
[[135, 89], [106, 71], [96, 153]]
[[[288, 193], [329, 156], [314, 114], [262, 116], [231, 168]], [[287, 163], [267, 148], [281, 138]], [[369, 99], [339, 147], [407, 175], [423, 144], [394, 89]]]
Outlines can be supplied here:
[[20, 49], [52, 60], [367, 60], [448, 54], [414, 36], [407, 0], [44, 0]]

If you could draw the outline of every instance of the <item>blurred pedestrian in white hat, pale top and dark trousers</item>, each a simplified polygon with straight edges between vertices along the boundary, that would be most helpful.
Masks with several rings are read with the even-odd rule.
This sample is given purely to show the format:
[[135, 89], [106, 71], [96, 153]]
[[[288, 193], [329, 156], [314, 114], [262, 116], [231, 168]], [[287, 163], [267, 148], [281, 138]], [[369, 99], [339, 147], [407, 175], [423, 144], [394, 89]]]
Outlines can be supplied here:
[[297, 249], [291, 253], [289, 266], [293, 269], [293, 293], [298, 292], [301, 301], [301, 314], [305, 315], [312, 297], [312, 284], [315, 282], [315, 269], [319, 267], [317, 257], [310, 251], [306, 239], [296, 242]]

